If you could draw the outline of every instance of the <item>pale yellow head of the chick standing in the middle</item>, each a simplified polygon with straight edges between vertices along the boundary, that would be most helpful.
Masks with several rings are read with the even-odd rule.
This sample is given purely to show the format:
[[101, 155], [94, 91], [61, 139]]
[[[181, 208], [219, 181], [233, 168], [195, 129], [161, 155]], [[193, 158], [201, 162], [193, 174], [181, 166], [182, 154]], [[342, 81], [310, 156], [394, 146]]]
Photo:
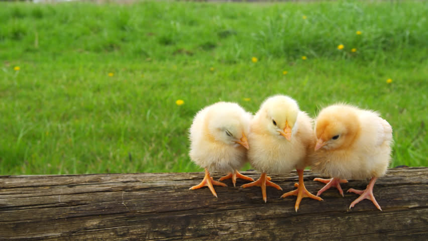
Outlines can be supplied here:
[[275, 95], [266, 99], [260, 107], [266, 130], [274, 136], [291, 141], [292, 130], [296, 129], [299, 113], [297, 102], [285, 95]]

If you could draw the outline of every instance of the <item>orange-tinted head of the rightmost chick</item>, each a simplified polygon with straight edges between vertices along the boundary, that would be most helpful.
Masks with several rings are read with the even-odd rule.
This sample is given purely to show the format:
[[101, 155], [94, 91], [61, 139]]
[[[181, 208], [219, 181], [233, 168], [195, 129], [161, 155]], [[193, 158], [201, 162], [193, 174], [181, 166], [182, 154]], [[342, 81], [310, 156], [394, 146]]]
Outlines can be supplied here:
[[354, 142], [359, 130], [360, 124], [353, 106], [337, 104], [324, 108], [316, 118], [315, 151], [320, 148], [347, 148]]

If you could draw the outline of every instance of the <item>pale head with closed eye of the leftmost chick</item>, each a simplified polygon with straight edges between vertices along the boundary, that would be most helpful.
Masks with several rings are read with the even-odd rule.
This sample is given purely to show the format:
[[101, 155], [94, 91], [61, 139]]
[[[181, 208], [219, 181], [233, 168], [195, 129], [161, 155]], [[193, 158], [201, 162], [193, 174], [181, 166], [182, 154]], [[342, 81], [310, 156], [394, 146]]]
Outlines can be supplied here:
[[236, 103], [219, 102], [210, 108], [206, 116], [208, 133], [216, 141], [247, 150], [251, 114]]

